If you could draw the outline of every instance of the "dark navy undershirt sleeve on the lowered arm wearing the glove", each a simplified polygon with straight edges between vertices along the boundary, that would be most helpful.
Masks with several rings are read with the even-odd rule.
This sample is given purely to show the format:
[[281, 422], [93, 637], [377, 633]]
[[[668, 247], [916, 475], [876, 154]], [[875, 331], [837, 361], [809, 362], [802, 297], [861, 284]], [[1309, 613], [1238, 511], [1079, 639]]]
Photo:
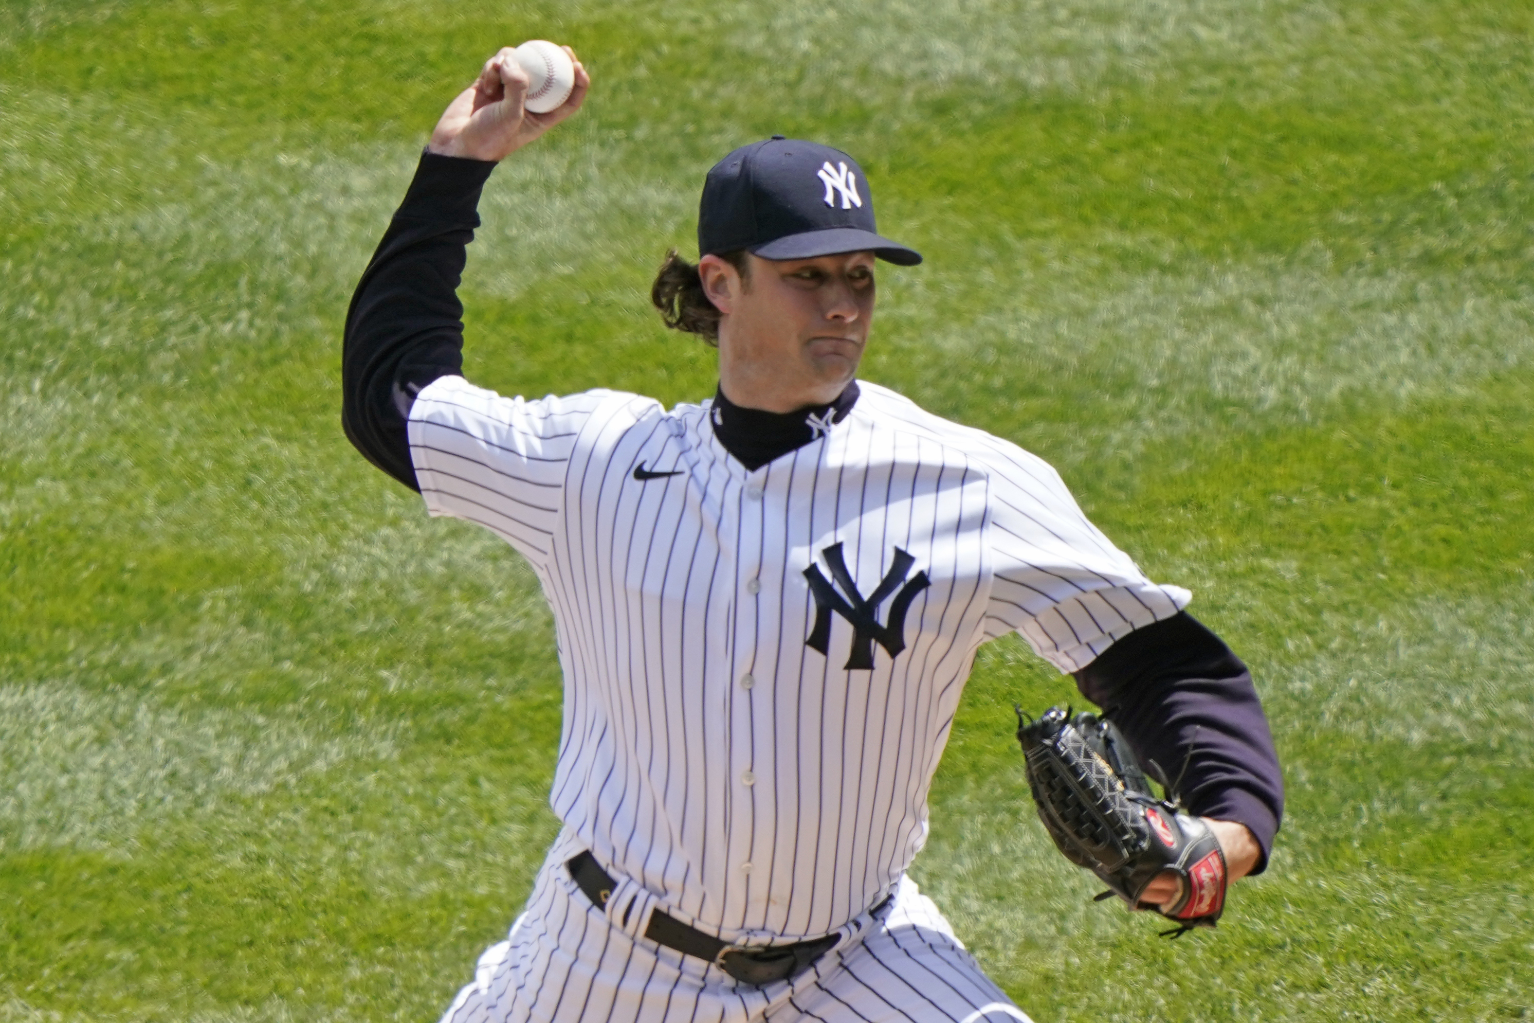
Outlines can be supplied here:
[[1250, 828], [1262, 847], [1252, 873], [1267, 867], [1284, 778], [1252, 672], [1220, 636], [1181, 612], [1114, 643], [1075, 684], [1192, 813]]

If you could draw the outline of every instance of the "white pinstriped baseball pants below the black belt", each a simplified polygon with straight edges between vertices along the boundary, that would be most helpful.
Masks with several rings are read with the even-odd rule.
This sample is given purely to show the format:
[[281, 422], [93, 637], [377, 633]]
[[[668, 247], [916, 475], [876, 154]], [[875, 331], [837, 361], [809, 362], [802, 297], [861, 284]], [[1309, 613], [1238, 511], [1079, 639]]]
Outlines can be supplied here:
[[910, 879], [879, 917], [844, 931], [793, 980], [744, 985], [630, 937], [563, 863], [545, 863], [526, 911], [480, 957], [442, 1023], [1028, 1023]]

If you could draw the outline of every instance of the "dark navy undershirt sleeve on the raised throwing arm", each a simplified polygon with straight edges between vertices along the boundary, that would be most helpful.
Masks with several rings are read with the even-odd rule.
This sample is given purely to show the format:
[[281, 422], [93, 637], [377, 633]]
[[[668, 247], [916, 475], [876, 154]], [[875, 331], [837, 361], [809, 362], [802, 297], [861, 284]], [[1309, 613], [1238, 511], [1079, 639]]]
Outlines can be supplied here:
[[495, 164], [422, 153], [362, 273], [341, 354], [341, 425], [368, 462], [419, 491], [407, 425], [416, 394], [463, 370], [457, 288]]

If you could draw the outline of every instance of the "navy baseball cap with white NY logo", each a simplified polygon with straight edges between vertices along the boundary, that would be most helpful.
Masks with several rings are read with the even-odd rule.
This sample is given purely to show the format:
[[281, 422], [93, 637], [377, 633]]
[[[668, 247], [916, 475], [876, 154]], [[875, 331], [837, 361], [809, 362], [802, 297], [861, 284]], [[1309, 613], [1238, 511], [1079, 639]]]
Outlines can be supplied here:
[[856, 160], [782, 135], [736, 149], [703, 183], [698, 255], [738, 248], [762, 259], [873, 250], [902, 267], [922, 261], [914, 248], [879, 235]]

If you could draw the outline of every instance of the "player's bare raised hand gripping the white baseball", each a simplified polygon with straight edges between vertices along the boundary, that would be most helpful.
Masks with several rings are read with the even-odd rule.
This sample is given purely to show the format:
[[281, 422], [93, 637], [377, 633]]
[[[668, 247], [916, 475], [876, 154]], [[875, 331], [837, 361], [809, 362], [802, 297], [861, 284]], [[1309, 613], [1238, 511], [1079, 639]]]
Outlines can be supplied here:
[[580, 109], [591, 89], [591, 75], [569, 46], [575, 61], [575, 89], [569, 100], [548, 113], [523, 109], [528, 72], [512, 55], [511, 46], [485, 61], [479, 78], [460, 92], [437, 121], [426, 149], [443, 156], [465, 156], [495, 163], [505, 160]]

